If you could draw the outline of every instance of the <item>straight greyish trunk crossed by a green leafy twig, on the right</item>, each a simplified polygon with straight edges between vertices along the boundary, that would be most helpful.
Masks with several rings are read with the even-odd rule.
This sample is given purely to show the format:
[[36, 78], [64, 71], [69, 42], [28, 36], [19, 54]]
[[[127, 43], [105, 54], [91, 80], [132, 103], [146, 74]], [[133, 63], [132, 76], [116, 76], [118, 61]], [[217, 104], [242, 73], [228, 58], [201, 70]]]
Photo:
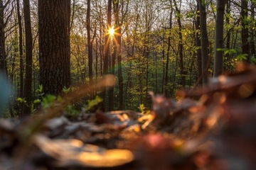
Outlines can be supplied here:
[[223, 72], [223, 28], [224, 28], [225, 1], [217, 1], [217, 14], [215, 21], [215, 56], [213, 77], [218, 77]]

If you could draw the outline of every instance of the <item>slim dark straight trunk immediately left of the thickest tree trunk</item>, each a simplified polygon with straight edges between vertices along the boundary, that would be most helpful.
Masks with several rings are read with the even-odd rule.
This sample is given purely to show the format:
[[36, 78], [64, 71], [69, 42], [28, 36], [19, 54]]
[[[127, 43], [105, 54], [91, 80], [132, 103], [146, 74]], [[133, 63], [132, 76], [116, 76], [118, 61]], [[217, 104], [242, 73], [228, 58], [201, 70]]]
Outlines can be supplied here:
[[23, 0], [23, 11], [25, 21], [25, 43], [26, 43], [26, 69], [24, 81], [24, 98], [26, 104], [23, 106], [23, 113], [21, 116], [31, 114], [32, 102], [32, 57], [33, 57], [33, 38], [31, 30], [31, 14], [29, 0]]

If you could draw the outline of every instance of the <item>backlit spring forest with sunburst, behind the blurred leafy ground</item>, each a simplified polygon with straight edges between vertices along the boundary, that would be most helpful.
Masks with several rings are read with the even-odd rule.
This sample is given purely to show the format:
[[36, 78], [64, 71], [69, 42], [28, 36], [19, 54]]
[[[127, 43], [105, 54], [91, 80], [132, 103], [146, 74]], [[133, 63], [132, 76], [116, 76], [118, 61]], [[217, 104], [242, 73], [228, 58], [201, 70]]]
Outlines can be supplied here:
[[255, 1], [58, 3], [1, 0], [0, 68], [12, 85], [1, 116], [21, 116], [26, 106], [29, 115], [41, 94], [58, 96], [105, 74], [116, 86], [92, 91], [75, 108], [100, 96], [106, 111], [138, 111], [150, 107], [148, 91], [175, 98], [177, 89], [233, 72], [238, 61], [256, 61]]

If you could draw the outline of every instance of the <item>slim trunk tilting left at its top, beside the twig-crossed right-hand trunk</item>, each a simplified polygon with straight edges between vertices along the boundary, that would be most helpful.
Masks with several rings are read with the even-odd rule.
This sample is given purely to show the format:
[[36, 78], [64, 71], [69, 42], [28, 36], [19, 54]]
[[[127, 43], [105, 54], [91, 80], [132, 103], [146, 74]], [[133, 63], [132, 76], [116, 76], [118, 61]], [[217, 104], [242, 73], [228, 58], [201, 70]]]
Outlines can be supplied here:
[[205, 1], [198, 0], [199, 11], [200, 11], [200, 30], [201, 30], [201, 55], [202, 55], [202, 79], [203, 86], [206, 85], [208, 81], [208, 69], [210, 65], [209, 59], [209, 42], [207, 33], [207, 23], [206, 23], [206, 4]]

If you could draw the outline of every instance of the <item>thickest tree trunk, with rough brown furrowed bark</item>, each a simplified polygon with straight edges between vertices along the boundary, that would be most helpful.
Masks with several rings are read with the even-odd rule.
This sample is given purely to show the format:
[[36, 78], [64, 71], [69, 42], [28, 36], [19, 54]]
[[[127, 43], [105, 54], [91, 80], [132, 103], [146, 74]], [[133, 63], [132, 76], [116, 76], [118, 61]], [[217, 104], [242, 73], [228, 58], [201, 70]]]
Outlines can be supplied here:
[[70, 86], [70, 0], [38, 1], [40, 83], [45, 94]]

